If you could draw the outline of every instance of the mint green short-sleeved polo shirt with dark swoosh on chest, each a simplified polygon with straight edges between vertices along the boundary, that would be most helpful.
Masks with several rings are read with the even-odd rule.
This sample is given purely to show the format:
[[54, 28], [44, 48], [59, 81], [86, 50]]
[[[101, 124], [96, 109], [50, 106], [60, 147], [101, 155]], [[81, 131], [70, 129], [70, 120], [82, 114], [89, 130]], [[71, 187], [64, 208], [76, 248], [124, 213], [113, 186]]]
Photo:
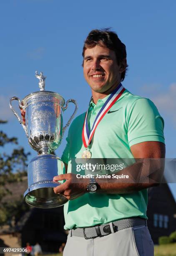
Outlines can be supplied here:
[[[109, 95], [90, 102], [88, 125], [93, 122]], [[68, 164], [81, 158], [85, 150], [82, 128], [85, 113], [73, 120], [68, 131], [67, 145], [61, 159]], [[164, 143], [164, 121], [156, 106], [147, 98], [125, 90], [98, 124], [89, 146], [92, 158], [133, 158], [130, 147], [144, 141]], [[64, 205], [65, 229], [90, 227], [130, 217], [147, 219], [147, 189], [128, 194], [86, 193]]]

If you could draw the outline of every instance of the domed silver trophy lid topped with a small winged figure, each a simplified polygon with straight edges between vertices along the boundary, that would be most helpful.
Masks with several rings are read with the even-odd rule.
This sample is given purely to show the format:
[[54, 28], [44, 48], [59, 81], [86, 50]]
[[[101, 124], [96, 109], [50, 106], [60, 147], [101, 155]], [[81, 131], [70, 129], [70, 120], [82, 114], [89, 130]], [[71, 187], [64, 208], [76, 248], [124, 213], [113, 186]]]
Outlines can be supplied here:
[[40, 91], [30, 93], [27, 95], [23, 100], [22, 104], [26, 108], [28, 105], [35, 103], [35, 102], [40, 102], [40, 101], [50, 101], [57, 103], [58, 105], [65, 105], [65, 100], [61, 95], [59, 95], [56, 92], [51, 92], [51, 91], [45, 91], [45, 79], [43, 72], [40, 72], [38, 74], [38, 71], [35, 71], [35, 77], [39, 79], [39, 88]]

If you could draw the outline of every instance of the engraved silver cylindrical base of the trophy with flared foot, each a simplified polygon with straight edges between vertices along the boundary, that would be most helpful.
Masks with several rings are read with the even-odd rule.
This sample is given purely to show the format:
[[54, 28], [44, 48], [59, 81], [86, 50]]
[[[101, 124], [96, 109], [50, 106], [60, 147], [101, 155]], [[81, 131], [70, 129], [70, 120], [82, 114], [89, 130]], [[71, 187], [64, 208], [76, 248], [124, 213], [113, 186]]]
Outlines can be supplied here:
[[45, 154], [33, 158], [28, 165], [25, 202], [30, 206], [44, 209], [64, 205], [68, 199], [64, 195], [55, 194], [53, 190], [60, 185], [60, 182], [53, 182], [53, 177], [64, 173], [64, 163], [55, 155]]

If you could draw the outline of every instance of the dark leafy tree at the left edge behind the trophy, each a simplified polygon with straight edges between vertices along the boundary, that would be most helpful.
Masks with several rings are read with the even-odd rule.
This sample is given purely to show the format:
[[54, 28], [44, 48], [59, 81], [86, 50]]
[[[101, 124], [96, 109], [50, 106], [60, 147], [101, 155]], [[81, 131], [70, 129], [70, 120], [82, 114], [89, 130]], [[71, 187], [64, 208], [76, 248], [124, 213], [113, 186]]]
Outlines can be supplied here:
[[[0, 120], [0, 125], [7, 121]], [[9, 138], [3, 131], [0, 131], [0, 147], [4, 147], [7, 143], [18, 145], [18, 139]], [[27, 175], [28, 155], [24, 148], [14, 148], [11, 154], [0, 153], [0, 225], [7, 223], [13, 216], [17, 217], [21, 210], [25, 210], [28, 206], [21, 200], [15, 202], [3, 202], [3, 198], [10, 194], [10, 190], [5, 186], [7, 183], [21, 181], [22, 177]]]

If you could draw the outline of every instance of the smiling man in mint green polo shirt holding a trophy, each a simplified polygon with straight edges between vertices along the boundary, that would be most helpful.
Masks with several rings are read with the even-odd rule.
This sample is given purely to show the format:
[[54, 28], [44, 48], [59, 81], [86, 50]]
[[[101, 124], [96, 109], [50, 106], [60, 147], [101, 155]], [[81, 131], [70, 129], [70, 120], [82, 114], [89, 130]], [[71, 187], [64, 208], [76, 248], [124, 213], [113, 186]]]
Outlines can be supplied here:
[[[68, 198], [64, 206], [69, 230], [64, 256], [153, 255], [147, 228], [147, 188], [155, 184], [77, 182], [71, 173], [76, 158], [164, 158], [163, 119], [150, 100], [131, 94], [125, 78], [126, 46], [117, 34], [93, 30], [83, 46], [83, 72], [91, 87], [87, 113], [70, 126], [62, 160], [66, 179], [54, 189]], [[85, 95], [84, 95], [85, 97]], [[139, 172], [138, 166], [128, 170]]]

